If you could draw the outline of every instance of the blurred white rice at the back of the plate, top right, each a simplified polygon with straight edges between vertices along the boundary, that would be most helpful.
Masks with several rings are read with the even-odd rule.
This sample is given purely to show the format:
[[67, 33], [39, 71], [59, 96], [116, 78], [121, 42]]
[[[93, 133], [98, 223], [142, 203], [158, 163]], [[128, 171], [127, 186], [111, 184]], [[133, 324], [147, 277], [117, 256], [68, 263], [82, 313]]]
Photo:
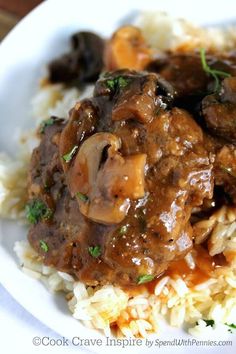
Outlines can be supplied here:
[[144, 12], [136, 20], [151, 47], [160, 50], [235, 49], [235, 26], [202, 28], [164, 12]]

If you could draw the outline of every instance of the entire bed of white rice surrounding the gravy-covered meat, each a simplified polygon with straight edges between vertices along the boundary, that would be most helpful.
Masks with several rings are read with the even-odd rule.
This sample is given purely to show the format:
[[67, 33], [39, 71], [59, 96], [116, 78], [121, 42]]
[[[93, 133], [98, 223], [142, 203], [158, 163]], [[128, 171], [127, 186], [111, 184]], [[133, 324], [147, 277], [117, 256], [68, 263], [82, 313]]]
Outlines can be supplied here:
[[[226, 32], [199, 29], [163, 13], [146, 13], [138, 19], [138, 23], [150, 45], [159, 49], [193, 49], [200, 46], [229, 49], [236, 43], [232, 29]], [[77, 89], [65, 89], [62, 85], [43, 86], [33, 100], [35, 124], [51, 115], [67, 117], [75, 102], [89, 95], [91, 90], [92, 87], [89, 87], [80, 95]], [[24, 142], [35, 139], [34, 133], [27, 134], [22, 138]], [[23, 216], [28, 161], [29, 158], [13, 161], [0, 154], [2, 217]], [[157, 282], [153, 294], [145, 288], [139, 295], [131, 296], [113, 285], [87, 287], [71, 275], [43, 265], [42, 259], [27, 241], [16, 242], [15, 252], [22, 270], [43, 281], [50, 291], [63, 291], [73, 317], [90, 328], [102, 329], [108, 335], [111, 327], [116, 325], [118, 335], [145, 337], [150, 332], [158, 333], [159, 320], [164, 316], [171, 326], [187, 324], [190, 334], [209, 338], [217, 327], [227, 333], [225, 323], [233, 323], [236, 318], [236, 209], [223, 207], [208, 220], [200, 221], [196, 227], [208, 230], [210, 254], [223, 252], [230, 266], [216, 269], [209, 280], [192, 288], [188, 288], [180, 276], [165, 276]], [[190, 269], [194, 269], [191, 253], [185, 260]], [[215, 324], [213, 327], [207, 326], [204, 320], [214, 320]]]

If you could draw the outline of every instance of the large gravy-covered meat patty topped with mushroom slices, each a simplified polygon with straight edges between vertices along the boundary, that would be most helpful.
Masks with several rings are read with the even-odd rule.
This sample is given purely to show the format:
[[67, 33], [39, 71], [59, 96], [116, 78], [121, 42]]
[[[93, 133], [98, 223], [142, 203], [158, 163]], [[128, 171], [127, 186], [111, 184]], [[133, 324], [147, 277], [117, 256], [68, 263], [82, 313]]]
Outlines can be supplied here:
[[201, 128], [171, 102], [156, 74], [108, 73], [66, 124], [45, 128], [29, 183], [49, 209], [29, 233], [45, 264], [90, 285], [134, 285], [191, 249], [213, 166]]

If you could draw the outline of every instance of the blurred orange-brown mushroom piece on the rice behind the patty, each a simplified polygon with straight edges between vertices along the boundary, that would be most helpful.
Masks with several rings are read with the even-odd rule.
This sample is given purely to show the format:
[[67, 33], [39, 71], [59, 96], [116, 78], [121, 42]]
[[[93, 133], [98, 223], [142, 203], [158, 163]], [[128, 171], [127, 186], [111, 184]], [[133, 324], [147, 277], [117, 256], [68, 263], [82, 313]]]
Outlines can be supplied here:
[[116, 31], [105, 50], [105, 64], [109, 70], [143, 70], [151, 57], [152, 51], [140, 29], [133, 26], [124, 26]]

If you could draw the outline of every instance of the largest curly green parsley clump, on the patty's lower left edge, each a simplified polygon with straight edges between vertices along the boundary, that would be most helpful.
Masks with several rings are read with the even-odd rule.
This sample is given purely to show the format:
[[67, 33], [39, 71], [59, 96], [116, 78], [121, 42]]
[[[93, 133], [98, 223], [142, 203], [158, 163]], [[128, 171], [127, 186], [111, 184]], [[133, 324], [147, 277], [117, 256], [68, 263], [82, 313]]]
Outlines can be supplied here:
[[52, 210], [41, 200], [31, 200], [25, 207], [26, 218], [31, 224], [36, 224], [40, 220], [48, 220], [52, 217]]

